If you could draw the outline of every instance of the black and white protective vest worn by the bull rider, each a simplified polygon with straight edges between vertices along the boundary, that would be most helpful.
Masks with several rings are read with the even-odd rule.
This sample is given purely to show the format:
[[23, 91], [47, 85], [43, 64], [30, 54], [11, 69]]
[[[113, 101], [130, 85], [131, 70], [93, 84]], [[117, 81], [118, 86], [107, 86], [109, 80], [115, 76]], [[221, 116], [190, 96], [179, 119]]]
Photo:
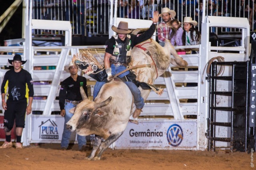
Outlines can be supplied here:
[[110, 62], [117, 63], [130, 63], [131, 61], [131, 35], [127, 35], [126, 41], [122, 43], [122, 41], [118, 38], [118, 35], [113, 35], [116, 40], [116, 44], [114, 45], [114, 51], [112, 56], [110, 57]]

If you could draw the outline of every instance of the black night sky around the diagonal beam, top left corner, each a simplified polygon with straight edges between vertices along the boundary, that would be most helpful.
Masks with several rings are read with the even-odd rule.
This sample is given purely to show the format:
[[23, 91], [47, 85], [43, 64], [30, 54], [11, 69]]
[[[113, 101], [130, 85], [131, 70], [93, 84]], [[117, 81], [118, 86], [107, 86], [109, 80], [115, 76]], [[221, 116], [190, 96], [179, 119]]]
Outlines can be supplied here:
[[[3, 2], [4, 1], [4, 2]], [[10, 7], [14, 0], [1, 0], [0, 16]], [[2, 25], [2, 23], [1, 23]], [[22, 38], [22, 3], [10, 18], [2, 32], [0, 33], [0, 45], [4, 45], [6, 39]]]

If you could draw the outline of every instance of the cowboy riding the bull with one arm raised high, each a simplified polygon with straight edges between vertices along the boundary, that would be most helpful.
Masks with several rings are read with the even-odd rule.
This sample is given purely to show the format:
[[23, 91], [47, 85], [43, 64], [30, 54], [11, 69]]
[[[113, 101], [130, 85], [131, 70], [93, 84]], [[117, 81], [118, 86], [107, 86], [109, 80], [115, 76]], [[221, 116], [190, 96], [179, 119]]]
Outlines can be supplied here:
[[[112, 26], [112, 30], [117, 33], [117, 35], [112, 36], [110, 39], [106, 41], [106, 51], [104, 55], [104, 67], [106, 69], [106, 74], [108, 75], [107, 80], [110, 80], [114, 75], [124, 71], [131, 60], [131, 51], [132, 48], [143, 42], [147, 39], [150, 39], [156, 30], [156, 23], [158, 22], [158, 12], [154, 12], [154, 18], [151, 18], [153, 21], [150, 28], [142, 33], [140, 36], [137, 35], [129, 35], [132, 30], [128, 29], [128, 23], [124, 21], [120, 21], [118, 27]], [[138, 56], [139, 57], [139, 56]], [[128, 86], [134, 96], [134, 104], [136, 106], [136, 110], [132, 114], [133, 118], [137, 118], [144, 106], [144, 99], [140, 94], [140, 90], [138, 87], [129, 81], [130, 71], [126, 71], [118, 76], [124, 83]], [[96, 98], [100, 88], [106, 82], [96, 82], [94, 86], [93, 97]], [[138, 124], [136, 120], [130, 120], [132, 123]]]

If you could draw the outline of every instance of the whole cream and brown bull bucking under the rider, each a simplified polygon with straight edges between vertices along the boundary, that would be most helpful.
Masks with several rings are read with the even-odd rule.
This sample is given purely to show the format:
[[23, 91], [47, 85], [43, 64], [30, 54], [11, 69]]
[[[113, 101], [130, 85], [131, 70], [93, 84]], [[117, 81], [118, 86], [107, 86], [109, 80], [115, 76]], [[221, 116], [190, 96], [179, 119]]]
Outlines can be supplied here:
[[[174, 58], [171, 58], [170, 54]], [[74, 55], [72, 61], [80, 68], [79, 63], [87, 62], [90, 66], [89, 72], [92, 74], [97, 72], [97, 64], [91, 60], [88, 61], [88, 58], [82, 55]], [[129, 66], [150, 64], [151, 67], [136, 68], [132, 71], [136, 74], [138, 81], [154, 84], [156, 78], [165, 72], [170, 63], [174, 66], [187, 66], [187, 62], [178, 56], [170, 42], [166, 42], [165, 46], [161, 47], [153, 39], [148, 39], [132, 49], [132, 60]], [[88, 73], [87, 67], [82, 70]], [[150, 90], [141, 88], [140, 90], [145, 101]], [[83, 101], [70, 110], [74, 115], [66, 125], [70, 131], [76, 131], [82, 136], [95, 134], [92, 153], [87, 159], [100, 160], [104, 150], [114, 143], [126, 129], [129, 117], [135, 109], [133, 96], [126, 84], [116, 80], [104, 84], [94, 101], [88, 100], [83, 88], [80, 88], [80, 92]]]

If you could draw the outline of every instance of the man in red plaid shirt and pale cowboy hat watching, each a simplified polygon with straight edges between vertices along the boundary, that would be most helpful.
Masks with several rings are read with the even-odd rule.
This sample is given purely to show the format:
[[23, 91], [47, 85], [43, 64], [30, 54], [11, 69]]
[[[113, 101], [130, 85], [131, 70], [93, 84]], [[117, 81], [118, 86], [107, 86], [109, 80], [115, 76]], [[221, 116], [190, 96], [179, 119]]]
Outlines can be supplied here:
[[157, 28], [157, 36], [159, 44], [164, 47], [165, 41], [170, 40], [170, 27], [172, 18], [176, 16], [176, 12], [174, 10], [170, 10], [169, 8], [162, 8], [162, 17], [163, 22], [158, 25]]

